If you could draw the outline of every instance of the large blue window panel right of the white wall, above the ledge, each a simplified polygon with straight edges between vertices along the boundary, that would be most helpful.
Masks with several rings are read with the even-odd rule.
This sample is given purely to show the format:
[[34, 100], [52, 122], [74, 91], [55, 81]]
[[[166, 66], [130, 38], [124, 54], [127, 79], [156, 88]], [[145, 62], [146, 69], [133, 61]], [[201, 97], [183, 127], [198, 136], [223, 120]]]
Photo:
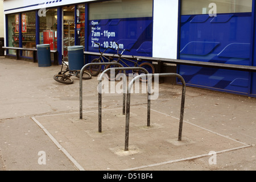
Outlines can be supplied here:
[[[191, 60], [251, 65], [251, 13], [224, 14], [213, 18], [200, 15], [207, 19], [203, 23], [192, 22], [195, 16], [199, 15], [189, 18], [185, 15], [188, 19], [181, 23], [180, 59], [188, 59], [191, 55]], [[212, 58], [205, 59], [205, 56]]]

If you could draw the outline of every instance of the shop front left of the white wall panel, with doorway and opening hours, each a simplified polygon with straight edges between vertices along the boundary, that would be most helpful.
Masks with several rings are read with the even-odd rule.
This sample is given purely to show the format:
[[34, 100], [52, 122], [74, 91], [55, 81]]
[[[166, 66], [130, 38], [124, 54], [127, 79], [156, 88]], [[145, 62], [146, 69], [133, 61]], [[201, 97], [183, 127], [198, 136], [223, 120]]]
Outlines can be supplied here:
[[[152, 0], [122, 1], [13, 1], [4, 2], [6, 46], [36, 48], [50, 44], [59, 52], [64, 48], [84, 46], [84, 51], [97, 52], [97, 44], [130, 49], [131, 55], [152, 56]], [[109, 52], [109, 51], [108, 51]], [[7, 50], [7, 55], [15, 55]], [[32, 52], [22, 51], [32, 58]]]

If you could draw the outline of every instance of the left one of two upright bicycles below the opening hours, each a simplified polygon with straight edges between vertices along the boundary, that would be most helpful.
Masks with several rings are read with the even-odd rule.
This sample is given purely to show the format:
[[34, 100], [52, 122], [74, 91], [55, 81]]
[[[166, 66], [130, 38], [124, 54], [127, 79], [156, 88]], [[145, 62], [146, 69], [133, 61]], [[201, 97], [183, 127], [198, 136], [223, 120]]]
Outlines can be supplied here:
[[[105, 48], [105, 47], [101, 47], [99, 43], [94, 43], [94, 44], [98, 45], [98, 51], [100, 52], [100, 57], [93, 59], [91, 63], [105, 63], [104, 59], [108, 60], [108, 62], [113, 61], [112, 57], [110, 56], [106, 57], [103, 55], [106, 52], [106, 50], [108, 50], [110, 47]], [[101, 52], [101, 48], [104, 48], [105, 50]], [[110, 48], [110, 49], [113, 49], [113, 48]], [[100, 74], [101, 72], [101, 67], [102, 67], [101, 65], [90, 65], [89, 67], [90, 75], [98, 76], [98, 74]]]

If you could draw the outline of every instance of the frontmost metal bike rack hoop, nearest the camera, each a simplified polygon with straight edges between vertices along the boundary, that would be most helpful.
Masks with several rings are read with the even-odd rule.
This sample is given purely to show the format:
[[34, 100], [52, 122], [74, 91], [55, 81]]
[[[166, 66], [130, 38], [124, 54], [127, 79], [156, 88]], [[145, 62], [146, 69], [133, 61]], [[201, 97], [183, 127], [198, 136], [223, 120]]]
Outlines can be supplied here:
[[[134, 82], [138, 78], [142, 77], [154, 77], [155, 75], [158, 75], [159, 77], [178, 77], [180, 81], [182, 82], [183, 88], [182, 88], [182, 96], [181, 96], [181, 108], [180, 108], [180, 123], [179, 123], [179, 138], [178, 140], [181, 141], [181, 134], [182, 134], [182, 127], [183, 127], [183, 117], [184, 117], [184, 105], [185, 105], [185, 80], [182, 76], [176, 74], [176, 73], [159, 73], [159, 74], [148, 74], [148, 75], [139, 75], [133, 80], [130, 81], [129, 86], [127, 88], [127, 99], [126, 99], [126, 124], [125, 124], [125, 151], [128, 151], [128, 145], [129, 145], [129, 124], [130, 124], [130, 100], [131, 100], [131, 87], [133, 86]], [[150, 84], [148, 84], [148, 92], [150, 89]], [[147, 93], [148, 93], [147, 92]], [[150, 126], [150, 94], [148, 93], [147, 97], [147, 126]]]

